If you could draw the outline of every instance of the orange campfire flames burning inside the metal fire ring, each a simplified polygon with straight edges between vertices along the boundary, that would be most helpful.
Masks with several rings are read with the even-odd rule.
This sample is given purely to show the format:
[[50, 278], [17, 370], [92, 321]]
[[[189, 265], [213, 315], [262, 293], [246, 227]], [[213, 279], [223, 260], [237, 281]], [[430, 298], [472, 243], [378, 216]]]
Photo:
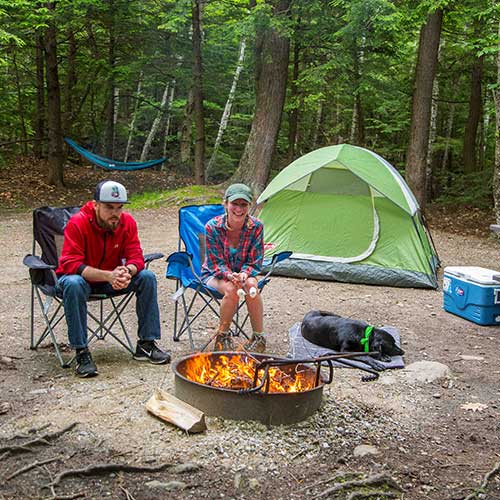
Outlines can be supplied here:
[[[200, 354], [186, 360], [184, 375], [193, 382], [221, 389], [251, 389], [254, 384], [255, 368], [259, 360], [246, 354], [211, 356]], [[269, 368], [268, 392], [304, 392], [314, 388], [315, 372], [310, 368], [292, 370], [288, 367]], [[290, 373], [291, 371], [291, 373]], [[262, 382], [264, 370], [259, 370], [256, 385]], [[264, 392], [265, 386], [262, 388]]]

